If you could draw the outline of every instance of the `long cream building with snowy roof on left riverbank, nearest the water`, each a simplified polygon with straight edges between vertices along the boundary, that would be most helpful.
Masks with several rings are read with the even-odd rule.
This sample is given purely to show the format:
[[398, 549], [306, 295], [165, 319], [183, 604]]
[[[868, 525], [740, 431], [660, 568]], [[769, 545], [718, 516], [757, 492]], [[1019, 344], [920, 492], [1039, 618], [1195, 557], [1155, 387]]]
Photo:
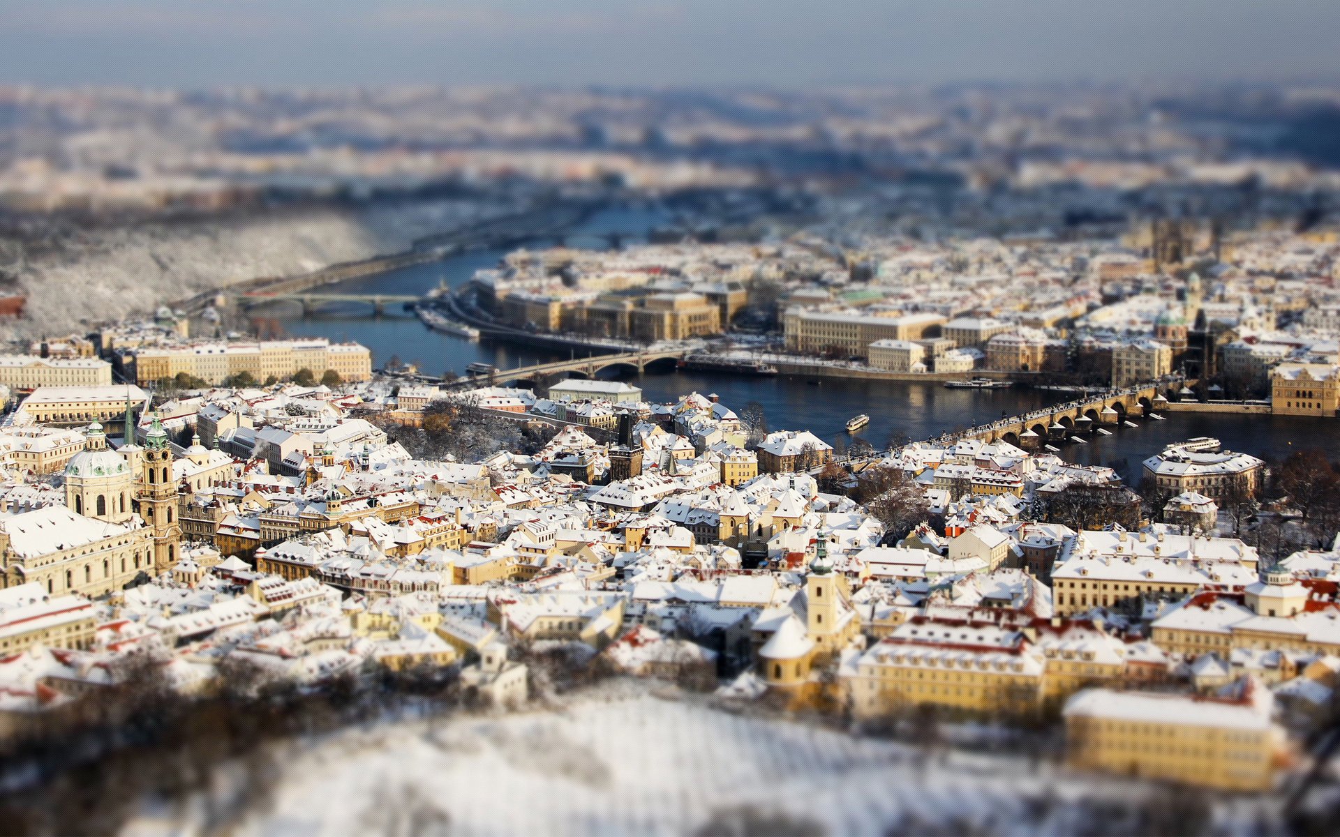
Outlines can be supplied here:
[[316, 378], [334, 370], [343, 380], [367, 380], [373, 376], [373, 354], [358, 343], [324, 339], [197, 343], [149, 347], [135, 354], [135, 380], [142, 384], [181, 372], [209, 384], [241, 372], [264, 382], [271, 376], [292, 378], [300, 370], [310, 370]]

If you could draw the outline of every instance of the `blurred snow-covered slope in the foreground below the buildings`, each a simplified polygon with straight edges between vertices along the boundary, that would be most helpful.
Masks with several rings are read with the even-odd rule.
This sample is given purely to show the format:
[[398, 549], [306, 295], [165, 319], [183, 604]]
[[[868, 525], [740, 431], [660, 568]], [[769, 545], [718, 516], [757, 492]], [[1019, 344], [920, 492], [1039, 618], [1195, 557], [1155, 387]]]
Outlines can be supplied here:
[[[287, 762], [273, 804], [237, 833], [693, 834], [710, 822], [710, 833], [741, 834], [1122, 833], [1114, 793], [1085, 777], [1040, 775], [1022, 759], [926, 757], [624, 694], [346, 733]], [[1103, 806], [1106, 828], [1085, 828], [1092, 809], [1081, 804]], [[1257, 802], [1235, 808], [1238, 824], [1262, 814]], [[745, 809], [783, 820], [750, 829], [738, 825]]]

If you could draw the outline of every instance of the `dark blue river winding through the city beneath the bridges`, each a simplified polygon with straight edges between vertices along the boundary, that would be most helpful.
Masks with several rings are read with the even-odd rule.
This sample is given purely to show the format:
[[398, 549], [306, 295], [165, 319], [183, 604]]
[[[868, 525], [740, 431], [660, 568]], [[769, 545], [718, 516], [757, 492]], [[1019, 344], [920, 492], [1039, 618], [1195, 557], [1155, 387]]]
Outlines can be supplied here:
[[[657, 208], [619, 208], [596, 213], [574, 229], [570, 246], [603, 249], [600, 236], [619, 233], [624, 241], [643, 240], [653, 226], [663, 225], [667, 213]], [[537, 242], [545, 246], [549, 242]], [[332, 292], [425, 293], [440, 281], [458, 287], [474, 271], [497, 264], [505, 250], [469, 250], [440, 262], [411, 265], [386, 273], [352, 279], [332, 285]], [[393, 355], [413, 362], [426, 374], [461, 372], [469, 363], [492, 363], [500, 368], [555, 360], [543, 350], [482, 340], [472, 343], [425, 328], [406, 312], [389, 311], [378, 319], [363, 311], [332, 308], [310, 317], [280, 308], [275, 312], [288, 333], [356, 340], [373, 350], [374, 366]], [[950, 390], [939, 383], [903, 383], [820, 379], [804, 376], [753, 378], [714, 372], [645, 372], [620, 375], [642, 387], [647, 400], [666, 402], [698, 391], [716, 392], [721, 400], [741, 410], [758, 402], [772, 429], [808, 429], [832, 443], [847, 445], [852, 437], [843, 426], [851, 416], [866, 412], [871, 421], [856, 435], [883, 447], [891, 435], [922, 439], [958, 427], [967, 427], [1001, 415], [1016, 415], [1049, 403], [1067, 400], [1065, 394], [1016, 387], [1012, 390]], [[1110, 465], [1131, 481], [1139, 479], [1139, 463], [1168, 442], [1197, 435], [1219, 438], [1226, 447], [1266, 459], [1280, 459], [1298, 449], [1320, 447], [1332, 455], [1340, 451], [1340, 421], [1278, 418], [1245, 414], [1168, 412], [1166, 421], [1136, 419], [1140, 427], [1116, 427], [1114, 435], [1091, 434], [1088, 443], [1069, 442], [1061, 455], [1072, 462]]]

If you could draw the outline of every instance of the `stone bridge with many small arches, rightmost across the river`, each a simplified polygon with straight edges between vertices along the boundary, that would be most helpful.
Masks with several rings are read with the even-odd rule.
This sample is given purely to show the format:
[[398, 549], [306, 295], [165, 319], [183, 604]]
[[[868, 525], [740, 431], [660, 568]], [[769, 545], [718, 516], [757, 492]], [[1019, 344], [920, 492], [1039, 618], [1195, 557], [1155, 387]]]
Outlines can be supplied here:
[[1147, 416], [1178, 398], [1182, 380], [1174, 383], [1146, 383], [1120, 390], [1083, 395], [1064, 404], [1053, 404], [1001, 418], [967, 430], [945, 434], [937, 441], [981, 439], [982, 442], [1009, 442], [1020, 447], [1064, 441], [1076, 433], [1096, 430], [1103, 425], [1120, 425], [1131, 418]]

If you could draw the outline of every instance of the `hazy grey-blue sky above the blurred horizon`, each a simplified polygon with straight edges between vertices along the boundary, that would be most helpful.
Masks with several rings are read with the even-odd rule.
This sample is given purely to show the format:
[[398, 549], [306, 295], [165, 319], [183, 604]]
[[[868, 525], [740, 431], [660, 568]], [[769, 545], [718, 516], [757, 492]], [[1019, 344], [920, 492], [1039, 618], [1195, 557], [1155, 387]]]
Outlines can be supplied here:
[[1336, 80], [1340, 0], [0, 0], [0, 83]]

